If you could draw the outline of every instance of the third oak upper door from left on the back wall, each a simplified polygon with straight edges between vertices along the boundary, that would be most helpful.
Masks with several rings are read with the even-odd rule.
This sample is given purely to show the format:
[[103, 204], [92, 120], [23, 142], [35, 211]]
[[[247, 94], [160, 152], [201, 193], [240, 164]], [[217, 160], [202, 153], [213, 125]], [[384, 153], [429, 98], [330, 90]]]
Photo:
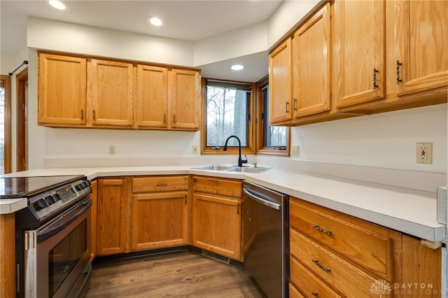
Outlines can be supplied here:
[[139, 128], [168, 127], [168, 69], [137, 66], [137, 123]]

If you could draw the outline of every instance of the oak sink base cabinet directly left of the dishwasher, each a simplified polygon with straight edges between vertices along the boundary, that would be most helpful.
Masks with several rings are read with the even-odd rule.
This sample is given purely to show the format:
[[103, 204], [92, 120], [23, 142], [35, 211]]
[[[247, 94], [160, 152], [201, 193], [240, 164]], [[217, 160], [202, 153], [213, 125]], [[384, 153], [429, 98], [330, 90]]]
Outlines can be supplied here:
[[241, 261], [241, 180], [193, 180], [191, 244]]

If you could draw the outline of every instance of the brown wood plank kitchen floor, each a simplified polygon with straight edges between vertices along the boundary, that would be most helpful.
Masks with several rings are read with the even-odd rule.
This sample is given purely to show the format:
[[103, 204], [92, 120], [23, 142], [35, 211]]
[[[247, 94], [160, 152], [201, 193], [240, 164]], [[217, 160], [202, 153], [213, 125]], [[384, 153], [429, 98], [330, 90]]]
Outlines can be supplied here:
[[94, 297], [266, 298], [247, 270], [192, 252], [95, 264]]

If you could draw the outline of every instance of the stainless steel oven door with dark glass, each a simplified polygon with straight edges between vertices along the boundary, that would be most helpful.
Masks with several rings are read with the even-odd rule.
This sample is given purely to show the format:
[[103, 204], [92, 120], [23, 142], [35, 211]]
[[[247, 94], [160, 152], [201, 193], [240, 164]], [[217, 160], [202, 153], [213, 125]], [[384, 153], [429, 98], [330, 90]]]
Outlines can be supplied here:
[[25, 297], [69, 297], [80, 281], [87, 284], [90, 206], [87, 197], [42, 227], [25, 231]]

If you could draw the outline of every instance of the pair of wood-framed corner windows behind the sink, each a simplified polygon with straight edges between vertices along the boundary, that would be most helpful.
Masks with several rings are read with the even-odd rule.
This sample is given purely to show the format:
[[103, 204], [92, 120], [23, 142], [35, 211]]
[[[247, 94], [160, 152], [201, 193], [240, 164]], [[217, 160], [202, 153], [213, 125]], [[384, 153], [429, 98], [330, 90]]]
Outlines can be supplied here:
[[[202, 154], [224, 154], [225, 140], [235, 135], [243, 154], [289, 155], [289, 128], [269, 125], [269, 86], [204, 79], [206, 98]], [[253, 116], [255, 115], [255, 116]], [[228, 142], [228, 154], [237, 153], [238, 141]]]

